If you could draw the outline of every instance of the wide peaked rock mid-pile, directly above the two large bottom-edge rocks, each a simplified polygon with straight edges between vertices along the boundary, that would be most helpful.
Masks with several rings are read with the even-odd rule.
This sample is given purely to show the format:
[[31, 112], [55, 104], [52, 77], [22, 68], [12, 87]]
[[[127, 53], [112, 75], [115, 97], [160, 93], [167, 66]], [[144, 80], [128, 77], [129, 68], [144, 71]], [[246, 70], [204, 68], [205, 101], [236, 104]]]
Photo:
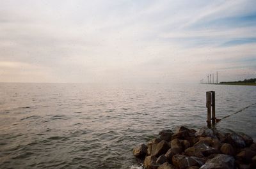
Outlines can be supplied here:
[[220, 151], [218, 149], [214, 149], [204, 143], [199, 143], [193, 147], [189, 147], [185, 150], [185, 154], [187, 156], [196, 156], [198, 158], [202, 158], [204, 156], [209, 156], [210, 154], [217, 154]]

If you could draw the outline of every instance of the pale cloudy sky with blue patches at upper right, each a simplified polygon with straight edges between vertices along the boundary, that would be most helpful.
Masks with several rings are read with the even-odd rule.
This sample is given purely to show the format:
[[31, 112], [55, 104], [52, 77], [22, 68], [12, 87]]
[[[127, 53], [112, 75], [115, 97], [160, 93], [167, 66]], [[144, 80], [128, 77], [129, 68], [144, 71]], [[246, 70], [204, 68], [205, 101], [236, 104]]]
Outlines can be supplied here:
[[0, 0], [0, 82], [256, 78], [256, 1]]

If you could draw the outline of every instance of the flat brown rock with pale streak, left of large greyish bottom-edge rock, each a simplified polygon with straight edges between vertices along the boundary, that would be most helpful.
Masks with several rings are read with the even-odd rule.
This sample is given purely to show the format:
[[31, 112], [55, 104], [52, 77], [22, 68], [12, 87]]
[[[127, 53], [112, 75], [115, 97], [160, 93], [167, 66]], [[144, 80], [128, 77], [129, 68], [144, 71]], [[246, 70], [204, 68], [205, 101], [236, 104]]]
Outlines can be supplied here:
[[205, 163], [205, 160], [202, 158], [189, 157], [180, 154], [176, 154], [172, 158], [173, 165], [177, 166], [180, 169], [188, 168], [189, 166], [202, 166]]

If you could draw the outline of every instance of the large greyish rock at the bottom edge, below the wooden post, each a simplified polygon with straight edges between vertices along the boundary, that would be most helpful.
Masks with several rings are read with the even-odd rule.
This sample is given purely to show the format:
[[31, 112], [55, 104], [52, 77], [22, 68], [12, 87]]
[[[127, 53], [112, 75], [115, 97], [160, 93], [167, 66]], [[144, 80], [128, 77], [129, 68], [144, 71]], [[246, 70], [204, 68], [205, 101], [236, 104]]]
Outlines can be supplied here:
[[208, 159], [200, 169], [234, 169], [235, 159], [226, 154], [217, 154]]

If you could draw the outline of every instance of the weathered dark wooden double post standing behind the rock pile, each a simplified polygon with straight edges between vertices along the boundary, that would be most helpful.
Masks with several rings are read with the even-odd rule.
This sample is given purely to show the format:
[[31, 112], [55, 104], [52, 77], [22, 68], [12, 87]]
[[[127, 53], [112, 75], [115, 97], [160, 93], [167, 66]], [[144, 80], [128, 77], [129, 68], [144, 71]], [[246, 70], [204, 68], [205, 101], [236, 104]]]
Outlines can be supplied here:
[[211, 121], [212, 127], [215, 126], [215, 92], [209, 91], [206, 92], [206, 107], [207, 107], [207, 126], [211, 128]]

